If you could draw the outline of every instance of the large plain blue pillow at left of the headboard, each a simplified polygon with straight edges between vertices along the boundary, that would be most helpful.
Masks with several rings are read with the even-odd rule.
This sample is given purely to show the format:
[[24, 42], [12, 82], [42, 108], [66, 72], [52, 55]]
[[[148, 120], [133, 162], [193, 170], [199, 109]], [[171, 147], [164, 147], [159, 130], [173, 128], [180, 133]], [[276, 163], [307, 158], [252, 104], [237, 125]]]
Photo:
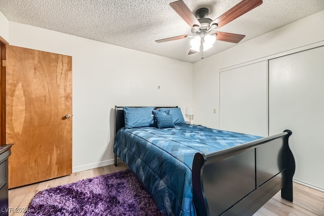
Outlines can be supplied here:
[[125, 114], [125, 127], [152, 127], [153, 106], [149, 107], [123, 107]]

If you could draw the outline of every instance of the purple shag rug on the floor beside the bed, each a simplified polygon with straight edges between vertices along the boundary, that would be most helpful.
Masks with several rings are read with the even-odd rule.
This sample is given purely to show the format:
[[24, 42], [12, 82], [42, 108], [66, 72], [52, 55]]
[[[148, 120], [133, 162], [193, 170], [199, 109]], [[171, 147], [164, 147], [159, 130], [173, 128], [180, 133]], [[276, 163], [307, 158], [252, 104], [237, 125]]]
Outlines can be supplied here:
[[38, 192], [25, 216], [163, 215], [130, 170]]

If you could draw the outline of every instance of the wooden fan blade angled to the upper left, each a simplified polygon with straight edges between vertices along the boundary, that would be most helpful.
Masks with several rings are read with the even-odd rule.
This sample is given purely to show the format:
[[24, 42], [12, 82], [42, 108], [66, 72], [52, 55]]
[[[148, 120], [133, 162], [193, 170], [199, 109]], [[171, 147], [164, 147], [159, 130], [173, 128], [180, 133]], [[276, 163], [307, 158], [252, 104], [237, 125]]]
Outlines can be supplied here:
[[200, 27], [200, 22], [197, 18], [192, 14], [188, 6], [183, 1], [177, 1], [170, 3], [170, 6], [175, 10], [181, 18], [188, 23], [188, 25], [192, 28], [194, 25]]

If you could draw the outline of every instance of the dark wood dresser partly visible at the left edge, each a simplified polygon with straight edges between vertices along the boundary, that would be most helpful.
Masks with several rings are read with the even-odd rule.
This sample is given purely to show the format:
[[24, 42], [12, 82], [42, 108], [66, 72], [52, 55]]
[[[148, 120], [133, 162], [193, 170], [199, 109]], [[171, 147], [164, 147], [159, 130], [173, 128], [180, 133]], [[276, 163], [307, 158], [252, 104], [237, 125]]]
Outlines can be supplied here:
[[0, 215], [9, 214], [8, 205], [8, 157], [13, 144], [0, 146]]

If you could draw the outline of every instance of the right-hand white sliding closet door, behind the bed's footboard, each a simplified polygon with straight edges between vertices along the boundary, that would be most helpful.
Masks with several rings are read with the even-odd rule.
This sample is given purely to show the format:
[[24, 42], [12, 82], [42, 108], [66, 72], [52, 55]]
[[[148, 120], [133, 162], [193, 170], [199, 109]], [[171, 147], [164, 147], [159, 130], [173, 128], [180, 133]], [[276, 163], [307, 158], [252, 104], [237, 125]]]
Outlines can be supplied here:
[[324, 190], [324, 47], [269, 61], [269, 135], [290, 129], [294, 179]]

